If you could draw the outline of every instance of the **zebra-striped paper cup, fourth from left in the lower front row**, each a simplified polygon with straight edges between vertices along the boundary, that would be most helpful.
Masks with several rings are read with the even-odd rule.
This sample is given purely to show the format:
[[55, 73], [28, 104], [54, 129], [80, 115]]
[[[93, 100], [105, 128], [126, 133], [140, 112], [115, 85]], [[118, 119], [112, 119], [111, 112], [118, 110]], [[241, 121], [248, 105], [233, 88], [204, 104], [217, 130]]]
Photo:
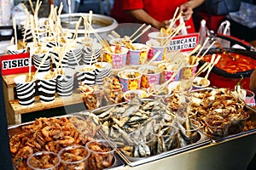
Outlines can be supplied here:
[[75, 71], [79, 85], [96, 84], [96, 67], [94, 65], [79, 65], [76, 66]]

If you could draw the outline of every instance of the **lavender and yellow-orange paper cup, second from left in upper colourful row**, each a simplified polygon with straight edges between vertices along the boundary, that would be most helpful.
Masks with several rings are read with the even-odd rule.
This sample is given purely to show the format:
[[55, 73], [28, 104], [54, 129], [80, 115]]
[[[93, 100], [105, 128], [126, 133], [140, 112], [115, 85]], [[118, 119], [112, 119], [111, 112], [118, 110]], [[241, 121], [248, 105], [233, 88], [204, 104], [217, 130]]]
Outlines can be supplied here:
[[148, 59], [149, 47], [143, 43], [133, 43], [136, 49], [129, 49], [127, 54], [128, 65], [144, 65]]

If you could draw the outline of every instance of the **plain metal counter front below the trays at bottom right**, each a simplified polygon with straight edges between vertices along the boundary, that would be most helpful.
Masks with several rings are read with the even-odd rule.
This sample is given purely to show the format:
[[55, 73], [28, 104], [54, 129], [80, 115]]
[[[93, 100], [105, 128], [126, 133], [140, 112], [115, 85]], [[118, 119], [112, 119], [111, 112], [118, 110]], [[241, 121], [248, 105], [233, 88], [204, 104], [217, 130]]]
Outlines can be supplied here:
[[239, 139], [209, 144], [141, 166], [126, 168], [131, 170], [246, 170], [254, 154], [256, 154], [255, 133]]

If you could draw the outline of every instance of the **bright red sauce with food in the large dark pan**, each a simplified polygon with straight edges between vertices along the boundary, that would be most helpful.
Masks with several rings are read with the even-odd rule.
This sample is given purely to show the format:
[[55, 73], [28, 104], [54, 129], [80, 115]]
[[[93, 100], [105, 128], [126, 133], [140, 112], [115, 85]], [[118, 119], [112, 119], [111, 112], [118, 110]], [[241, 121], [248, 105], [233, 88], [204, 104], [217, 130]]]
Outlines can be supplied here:
[[[219, 54], [216, 54], [216, 56], [218, 55]], [[218, 63], [215, 66], [228, 73], [236, 73], [256, 69], [256, 59], [251, 57], [236, 53], [223, 53], [220, 55], [221, 58], [218, 60]], [[234, 59], [232, 59], [232, 57]], [[207, 62], [210, 62], [211, 59], [212, 54], [207, 54], [202, 58], [202, 60]]]

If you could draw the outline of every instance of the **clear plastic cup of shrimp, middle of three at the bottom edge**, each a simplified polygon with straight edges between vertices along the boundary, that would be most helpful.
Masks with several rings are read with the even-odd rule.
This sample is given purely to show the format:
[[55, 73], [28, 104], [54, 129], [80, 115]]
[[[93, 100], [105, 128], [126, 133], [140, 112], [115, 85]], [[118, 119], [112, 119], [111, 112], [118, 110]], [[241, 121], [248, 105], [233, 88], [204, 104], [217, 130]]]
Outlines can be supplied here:
[[85, 146], [67, 146], [60, 150], [58, 155], [61, 158], [60, 169], [88, 169], [90, 151]]

